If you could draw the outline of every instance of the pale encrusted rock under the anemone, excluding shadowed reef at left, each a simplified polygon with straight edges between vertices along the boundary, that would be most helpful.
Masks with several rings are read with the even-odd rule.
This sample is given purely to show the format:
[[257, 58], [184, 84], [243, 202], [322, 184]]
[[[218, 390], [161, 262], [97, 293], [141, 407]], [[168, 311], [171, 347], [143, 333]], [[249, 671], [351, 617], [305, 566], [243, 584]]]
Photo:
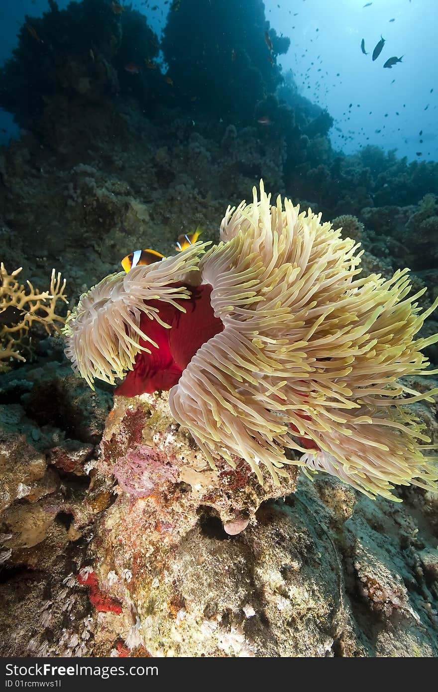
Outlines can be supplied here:
[[436, 656], [436, 550], [414, 519], [432, 493], [373, 501], [326, 475], [295, 488], [289, 472], [277, 488], [244, 462], [213, 470], [166, 394], [116, 397], [98, 473], [116, 476], [117, 498], [78, 576], [98, 613], [95, 648]]

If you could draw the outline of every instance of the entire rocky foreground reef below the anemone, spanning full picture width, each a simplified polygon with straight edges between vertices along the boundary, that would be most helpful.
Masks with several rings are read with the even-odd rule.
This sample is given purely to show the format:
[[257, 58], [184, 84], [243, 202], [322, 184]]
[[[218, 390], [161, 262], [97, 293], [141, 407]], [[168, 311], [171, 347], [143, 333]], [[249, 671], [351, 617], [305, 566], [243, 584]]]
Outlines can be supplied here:
[[77, 387], [80, 439], [26, 408], [33, 442], [3, 440], [3, 655], [438, 654], [435, 495], [373, 501], [294, 466], [260, 486], [210, 468], [164, 393], [116, 397], [102, 430], [106, 395]]

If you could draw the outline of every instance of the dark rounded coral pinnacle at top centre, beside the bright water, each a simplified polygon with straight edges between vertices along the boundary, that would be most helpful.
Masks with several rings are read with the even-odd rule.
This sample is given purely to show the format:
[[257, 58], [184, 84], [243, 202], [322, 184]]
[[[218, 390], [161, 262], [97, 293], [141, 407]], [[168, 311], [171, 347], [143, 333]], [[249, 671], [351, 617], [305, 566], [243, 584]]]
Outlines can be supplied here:
[[262, 0], [185, 0], [170, 12], [161, 48], [181, 104], [248, 123], [282, 82], [277, 56], [289, 44], [269, 26]]

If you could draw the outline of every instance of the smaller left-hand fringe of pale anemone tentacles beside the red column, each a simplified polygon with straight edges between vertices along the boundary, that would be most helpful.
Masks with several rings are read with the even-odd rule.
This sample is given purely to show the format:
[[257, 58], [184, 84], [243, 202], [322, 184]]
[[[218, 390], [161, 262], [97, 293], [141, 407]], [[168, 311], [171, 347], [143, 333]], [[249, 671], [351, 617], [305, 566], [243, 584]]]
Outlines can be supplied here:
[[176, 257], [137, 266], [127, 274], [111, 274], [81, 295], [63, 331], [66, 356], [91, 389], [94, 379], [115, 384], [116, 377], [122, 378], [127, 370], [132, 370], [138, 352], [150, 353], [148, 347], [140, 345], [140, 338], [156, 346], [140, 329], [141, 314], [168, 325], [147, 301], [161, 300], [184, 311], [176, 301], [190, 298], [190, 290], [171, 284], [199, 282], [199, 257], [206, 246], [199, 242]]

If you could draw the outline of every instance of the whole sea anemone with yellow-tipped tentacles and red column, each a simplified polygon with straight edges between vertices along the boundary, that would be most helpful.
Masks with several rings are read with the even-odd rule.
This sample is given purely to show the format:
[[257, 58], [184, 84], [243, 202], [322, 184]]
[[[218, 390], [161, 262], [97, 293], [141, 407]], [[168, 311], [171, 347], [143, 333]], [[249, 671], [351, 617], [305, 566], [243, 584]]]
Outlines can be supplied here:
[[[112, 275], [83, 295], [66, 353], [89, 382], [132, 396], [170, 389], [176, 421], [210, 464], [246, 459], [260, 482], [284, 464], [327, 471], [369, 497], [393, 484], [437, 489], [432, 448], [398, 381], [434, 374], [414, 340], [421, 313], [408, 269], [359, 277], [361, 254], [289, 199], [228, 208], [221, 242]], [[161, 352], [161, 355], [160, 355]], [[426, 372], [425, 372], [426, 371]], [[420, 444], [424, 443], [424, 444]], [[295, 454], [285, 450], [295, 450]], [[297, 453], [300, 453], [299, 455]], [[291, 459], [298, 456], [298, 459]]]

